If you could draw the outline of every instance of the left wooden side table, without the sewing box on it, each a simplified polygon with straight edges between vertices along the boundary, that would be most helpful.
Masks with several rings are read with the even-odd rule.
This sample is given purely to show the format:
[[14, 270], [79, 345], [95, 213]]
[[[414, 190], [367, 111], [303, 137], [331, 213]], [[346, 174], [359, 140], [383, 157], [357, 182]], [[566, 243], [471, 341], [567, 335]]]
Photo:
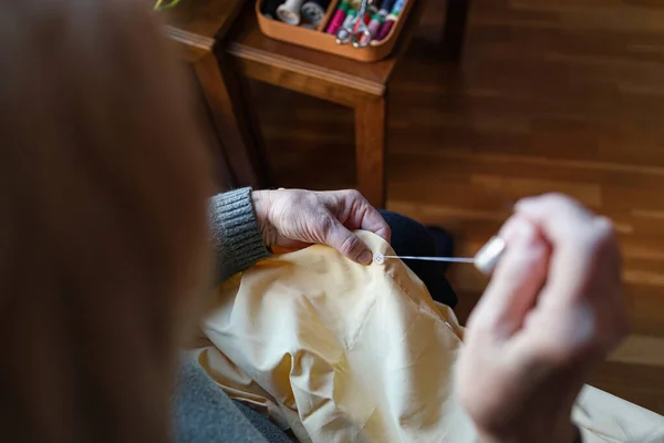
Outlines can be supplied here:
[[[224, 51], [228, 31], [240, 14], [243, 0], [186, 0], [167, 11], [166, 34], [176, 42], [184, 62], [191, 66], [194, 78], [209, 115], [215, 136], [216, 155], [224, 165], [217, 169], [230, 173], [234, 186], [266, 186], [266, 174], [258, 153], [258, 134], [246, 122], [250, 110], [237, 79], [225, 68]], [[226, 167], [227, 166], [227, 167]], [[224, 185], [228, 177], [224, 177]]]

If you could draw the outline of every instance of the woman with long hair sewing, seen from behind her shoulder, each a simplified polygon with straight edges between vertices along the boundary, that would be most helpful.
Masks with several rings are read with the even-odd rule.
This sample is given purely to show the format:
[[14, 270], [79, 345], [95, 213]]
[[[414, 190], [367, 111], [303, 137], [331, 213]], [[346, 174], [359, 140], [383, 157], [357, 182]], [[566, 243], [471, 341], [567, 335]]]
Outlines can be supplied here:
[[[212, 284], [212, 185], [183, 79], [139, 3], [23, 0], [0, 19], [8, 441], [173, 437], [177, 349]], [[212, 214], [221, 277], [274, 244], [326, 243], [366, 262], [349, 229], [390, 236], [355, 193], [240, 190]], [[460, 362], [464, 405], [483, 441], [571, 442], [571, 403], [625, 333], [614, 236], [561, 196], [520, 203], [500, 235], [508, 249]], [[191, 429], [260, 441], [227, 405], [227, 420], [194, 414]]]

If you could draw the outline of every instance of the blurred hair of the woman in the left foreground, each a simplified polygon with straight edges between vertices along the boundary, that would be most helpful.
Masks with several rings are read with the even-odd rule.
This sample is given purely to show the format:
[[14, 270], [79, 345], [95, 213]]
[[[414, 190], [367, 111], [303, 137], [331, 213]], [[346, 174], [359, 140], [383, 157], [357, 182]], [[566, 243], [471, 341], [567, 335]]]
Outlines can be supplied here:
[[169, 437], [211, 184], [141, 4], [20, 0], [0, 14], [2, 440]]

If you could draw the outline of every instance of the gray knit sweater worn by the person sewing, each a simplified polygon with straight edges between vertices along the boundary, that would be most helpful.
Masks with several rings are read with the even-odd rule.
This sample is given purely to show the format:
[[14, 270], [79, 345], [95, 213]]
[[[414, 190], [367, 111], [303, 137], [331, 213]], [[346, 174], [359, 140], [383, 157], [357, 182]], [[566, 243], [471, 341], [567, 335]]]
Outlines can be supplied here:
[[[217, 276], [224, 281], [268, 256], [260, 235], [251, 189], [242, 188], [212, 198], [210, 228], [217, 250]], [[177, 443], [283, 442], [290, 440], [269, 420], [232, 402], [205, 373], [185, 357], [174, 400]]]

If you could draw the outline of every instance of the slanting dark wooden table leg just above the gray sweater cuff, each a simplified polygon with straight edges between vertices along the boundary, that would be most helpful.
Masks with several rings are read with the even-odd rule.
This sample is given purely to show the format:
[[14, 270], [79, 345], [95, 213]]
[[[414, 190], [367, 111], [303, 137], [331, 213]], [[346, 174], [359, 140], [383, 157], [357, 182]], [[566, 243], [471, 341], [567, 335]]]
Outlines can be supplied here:
[[194, 71], [212, 115], [225, 157], [239, 186], [264, 187], [264, 166], [260, 158], [258, 134], [248, 127], [243, 97], [235, 79], [224, 72], [212, 51], [194, 63]]

